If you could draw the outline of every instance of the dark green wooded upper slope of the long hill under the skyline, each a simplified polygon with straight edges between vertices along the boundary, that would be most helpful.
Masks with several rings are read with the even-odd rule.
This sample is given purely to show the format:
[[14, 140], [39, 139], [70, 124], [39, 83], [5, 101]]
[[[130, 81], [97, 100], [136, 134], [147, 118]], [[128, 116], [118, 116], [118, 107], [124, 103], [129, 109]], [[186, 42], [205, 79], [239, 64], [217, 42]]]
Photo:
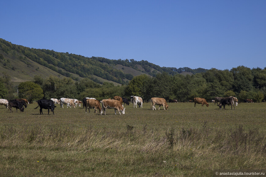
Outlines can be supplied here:
[[[10, 72], [16, 71], [19, 66], [17, 62], [20, 61], [31, 67], [32, 61], [42, 65], [50, 70], [70, 77], [74, 80], [80, 78], [90, 78], [91, 80], [102, 84], [98, 78], [103, 78], [107, 81], [114, 81], [119, 84], [126, 84], [133, 78], [133, 74], [123, 72], [123, 69], [117, 69], [116, 65], [130, 67], [142, 74], [156, 76], [157, 73], [167, 72], [170, 75], [175, 75], [183, 71], [189, 73], [201, 73], [206, 69], [190, 69], [188, 67], [175, 68], [175, 67], [160, 67], [148, 61], [135, 61], [131, 60], [110, 60], [102, 57], [85, 57], [72, 53], [55, 52], [54, 50], [47, 49], [33, 49], [21, 45], [15, 45], [0, 38], [0, 63], [1, 67], [9, 69]], [[25, 69], [27, 70], [27, 68]], [[36, 67], [35, 70], [40, 70]], [[31, 78], [33, 79], [33, 77]], [[27, 80], [27, 79], [26, 79]]]

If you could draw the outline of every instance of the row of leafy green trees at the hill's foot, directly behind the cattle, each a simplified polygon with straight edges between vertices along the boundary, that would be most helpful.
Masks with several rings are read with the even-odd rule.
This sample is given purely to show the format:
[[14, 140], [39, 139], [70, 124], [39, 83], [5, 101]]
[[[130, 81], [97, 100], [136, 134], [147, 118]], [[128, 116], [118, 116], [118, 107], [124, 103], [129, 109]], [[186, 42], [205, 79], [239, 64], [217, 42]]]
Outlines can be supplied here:
[[[7, 74], [0, 78], [0, 98], [12, 99], [14, 88]], [[266, 97], [266, 67], [261, 69], [238, 66], [231, 70], [217, 70], [212, 68], [204, 73], [193, 75], [170, 75], [167, 72], [155, 77], [142, 74], [132, 78], [128, 84], [115, 86], [104, 82], [102, 85], [89, 78], [74, 81], [71, 78], [59, 79], [54, 76], [42, 78], [40, 75], [32, 81], [22, 82], [18, 86], [20, 98], [29, 101], [50, 98], [94, 97], [98, 100], [113, 98], [113, 96], [140, 96], [148, 101], [152, 97], [177, 99], [187, 102], [194, 97], [205, 98], [207, 101], [214, 97], [236, 96], [239, 101], [253, 99], [261, 102]], [[28, 91], [30, 90], [30, 92]]]

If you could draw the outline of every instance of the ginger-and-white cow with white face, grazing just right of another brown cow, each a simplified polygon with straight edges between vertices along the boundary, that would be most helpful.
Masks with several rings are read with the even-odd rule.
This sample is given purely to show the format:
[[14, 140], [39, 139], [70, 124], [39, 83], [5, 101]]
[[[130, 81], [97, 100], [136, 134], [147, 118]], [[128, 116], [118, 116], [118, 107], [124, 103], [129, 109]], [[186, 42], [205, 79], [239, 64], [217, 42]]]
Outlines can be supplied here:
[[[104, 110], [104, 115], [106, 115], [105, 114], [106, 109], [115, 109], [115, 114], [116, 114], [116, 110], [118, 110], [120, 115], [121, 113], [125, 114], [126, 108], [122, 107], [120, 101], [115, 100], [115, 99], [103, 99], [101, 102], [102, 102], [102, 109]], [[102, 112], [101, 112], [101, 115], [102, 115]]]

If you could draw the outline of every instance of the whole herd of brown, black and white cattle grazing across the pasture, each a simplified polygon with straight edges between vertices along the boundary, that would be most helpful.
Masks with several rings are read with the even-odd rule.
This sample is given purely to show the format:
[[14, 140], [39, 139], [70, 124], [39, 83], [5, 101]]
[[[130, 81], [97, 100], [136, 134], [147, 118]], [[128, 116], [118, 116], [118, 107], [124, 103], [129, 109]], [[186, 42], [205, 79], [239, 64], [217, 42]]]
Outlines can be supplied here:
[[[137, 104], [139, 105], [139, 108], [142, 107], [142, 98], [139, 96], [131, 96], [131, 104], [133, 102], [133, 107], [137, 108]], [[169, 100], [170, 102], [170, 100]], [[177, 103], [177, 100], [171, 100], [171, 102], [173, 103]], [[201, 104], [201, 106], [203, 106], [204, 104], [209, 107], [209, 103], [207, 103], [206, 99], [204, 98], [194, 98], [194, 100], [189, 100], [189, 102], [194, 102], [195, 105], [194, 107], [196, 107], [196, 104]], [[214, 100], [212, 100], [212, 103], [214, 102], [214, 104], [217, 103], [217, 106], [219, 106], [220, 109], [222, 109], [222, 106], [224, 106], [225, 109], [225, 105], [231, 105], [231, 110], [232, 107], [234, 106], [235, 109], [235, 105], [237, 106], [238, 104], [238, 99], [236, 97], [230, 96], [230, 97], [226, 97], [226, 98], [222, 98], [222, 97], [215, 97]], [[220, 102], [218, 104], [218, 102]], [[245, 99], [244, 100], [245, 103], [254, 103], [252, 99]], [[97, 113], [97, 109], [99, 110], [99, 112], [102, 113], [104, 112], [104, 114], [106, 115], [106, 109], [114, 109], [115, 110], [115, 114], [116, 114], [116, 110], [118, 110], [119, 114], [125, 114], [125, 108], [124, 105], [129, 105], [129, 102], [126, 98], [120, 97], [120, 96], [114, 96], [113, 99], [103, 99], [102, 101], [98, 101], [95, 98], [89, 98], [89, 97], [85, 97], [83, 98], [82, 101], [79, 101], [77, 99], [69, 99], [69, 98], [61, 98], [61, 99], [55, 99], [55, 98], [51, 98], [51, 99], [40, 99], [37, 101], [38, 106], [34, 109], [37, 109], [38, 107], [40, 107], [40, 114], [42, 113], [42, 109], [48, 109], [48, 114], [50, 112], [50, 110], [53, 112], [54, 114], [54, 108], [56, 107], [55, 104], [60, 104], [61, 108], [64, 105], [67, 105], [68, 107], [76, 107], [77, 105], [80, 107], [81, 103], [83, 103], [83, 108], [85, 107], [85, 113], [87, 113], [87, 109], [90, 112], [91, 108], [94, 108], [94, 113]], [[102, 107], [101, 107], [101, 103], [102, 103]], [[124, 105], [123, 105], [124, 103]], [[0, 99], [0, 105], [5, 105], [6, 108], [8, 108], [8, 110], [10, 110], [10, 112], [13, 112], [12, 107], [15, 107], [16, 110], [19, 109], [20, 112], [24, 112], [24, 107], [27, 108], [27, 104], [29, 104], [27, 99], [13, 99], [13, 100], [6, 100], [6, 99]], [[156, 110], [155, 105], [159, 105], [159, 110], [160, 107], [163, 106], [164, 110], [168, 109], [169, 105], [167, 104], [166, 100], [164, 98], [151, 98], [151, 109], [152, 110]], [[24, 107], [23, 107], [24, 106]], [[121, 112], [121, 113], [120, 113]]]

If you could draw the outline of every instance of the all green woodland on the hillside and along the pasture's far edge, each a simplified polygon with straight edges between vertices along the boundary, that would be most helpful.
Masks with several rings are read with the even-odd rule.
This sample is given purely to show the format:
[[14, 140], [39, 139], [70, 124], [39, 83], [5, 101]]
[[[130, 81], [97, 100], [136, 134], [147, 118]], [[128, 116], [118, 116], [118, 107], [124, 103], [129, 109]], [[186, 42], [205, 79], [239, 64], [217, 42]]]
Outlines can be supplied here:
[[[76, 98], [94, 97], [98, 100], [131, 95], [141, 96], [148, 101], [152, 97], [162, 97], [167, 101], [177, 99], [186, 102], [194, 97], [202, 97], [207, 101], [214, 97], [236, 96], [240, 101], [253, 99], [261, 102], [266, 96], [266, 67], [248, 68], [238, 66], [231, 70], [212, 68], [190, 69], [159, 67], [147, 61], [109, 60], [102, 57], [84, 57], [76, 54], [55, 52], [46, 49], [30, 49], [14, 45], [0, 39], [0, 64], [3, 68], [16, 70], [12, 65], [13, 58], [18, 58], [30, 65], [30, 60], [58, 72], [65, 78], [56, 76], [35, 75], [31, 81], [21, 82], [14, 88], [12, 77], [8, 73], [0, 74], [0, 98], [27, 98], [30, 101], [45, 97]], [[138, 70], [138, 65], [144, 68], [143, 74], [133, 76], [115, 69], [115, 65], [131, 67]], [[187, 71], [192, 75], [181, 75]], [[73, 77], [78, 74], [81, 79]], [[91, 79], [91, 75], [115, 81], [122, 85], [115, 86], [110, 82]], [[126, 82], [124, 79], [127, 78]], [[95, 82], [96, 81], [96, 82]], [[30, 90], [30, 92], [29, 92]]]

